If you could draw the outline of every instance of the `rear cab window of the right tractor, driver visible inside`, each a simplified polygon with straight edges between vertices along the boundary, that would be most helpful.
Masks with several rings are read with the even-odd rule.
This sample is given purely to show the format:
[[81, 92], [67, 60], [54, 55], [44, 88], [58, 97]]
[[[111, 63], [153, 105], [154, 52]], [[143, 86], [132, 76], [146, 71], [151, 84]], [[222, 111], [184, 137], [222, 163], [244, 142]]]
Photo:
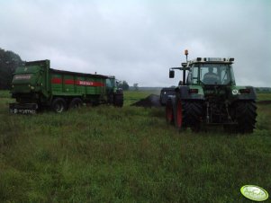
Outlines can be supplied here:
[[229, 84], [234, 80], [231, 74], [230, 64], [194, 64], [192, 66], [193, 83], [197, 83], [199, 79], [203, 84]]

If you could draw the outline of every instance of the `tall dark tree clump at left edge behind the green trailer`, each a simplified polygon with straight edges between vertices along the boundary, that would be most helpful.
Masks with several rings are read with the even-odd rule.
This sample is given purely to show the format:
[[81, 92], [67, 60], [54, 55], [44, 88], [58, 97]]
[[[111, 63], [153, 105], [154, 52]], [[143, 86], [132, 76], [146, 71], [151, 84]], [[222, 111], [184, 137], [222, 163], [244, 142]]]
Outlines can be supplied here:
[[19, 55], [13, 51], [5, 51], [0, 48], [0, 89], [6, 90], [11, 87], [13, 73], [17, 66], [22, 63]]

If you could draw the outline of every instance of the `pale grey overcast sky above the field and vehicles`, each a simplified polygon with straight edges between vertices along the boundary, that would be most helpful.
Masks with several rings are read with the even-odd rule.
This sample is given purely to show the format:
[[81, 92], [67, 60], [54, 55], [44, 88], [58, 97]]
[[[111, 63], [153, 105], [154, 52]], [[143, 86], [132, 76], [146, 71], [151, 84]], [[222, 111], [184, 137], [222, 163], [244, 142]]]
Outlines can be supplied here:
[[237, 84], [271, 86], [271, 1], [0, 0], [0, 48], [139, 86], [176, 85], [168, 68], [188, 49], [235, 57]]

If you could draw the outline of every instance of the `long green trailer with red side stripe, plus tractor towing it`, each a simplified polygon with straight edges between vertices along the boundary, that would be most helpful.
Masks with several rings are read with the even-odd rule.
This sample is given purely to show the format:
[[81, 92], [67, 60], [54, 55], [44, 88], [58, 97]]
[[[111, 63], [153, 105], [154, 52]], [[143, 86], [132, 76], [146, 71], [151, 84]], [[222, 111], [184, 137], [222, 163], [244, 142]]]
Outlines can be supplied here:
[[92, 75], [50, 68], [50, 60], [26, 62], [19, 66], [12, 81], [12, 113], [56, 112], [77, 108], [84, 103], [123, 105], [122, 89], [114, 76]]

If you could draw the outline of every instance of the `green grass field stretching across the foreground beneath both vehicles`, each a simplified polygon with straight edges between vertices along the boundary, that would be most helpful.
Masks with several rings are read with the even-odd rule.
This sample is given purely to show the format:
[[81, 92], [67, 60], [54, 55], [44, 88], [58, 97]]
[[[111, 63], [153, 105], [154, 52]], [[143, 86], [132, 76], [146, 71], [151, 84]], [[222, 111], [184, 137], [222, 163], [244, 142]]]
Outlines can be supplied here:
[[147, 95], [23, 116], [0, 92], [0, 202], [252, 202], [246, 184], [271, 194], [270, 104], [258, 105], [251, 135], [178, 133], [162, 108], [129, 106]]

